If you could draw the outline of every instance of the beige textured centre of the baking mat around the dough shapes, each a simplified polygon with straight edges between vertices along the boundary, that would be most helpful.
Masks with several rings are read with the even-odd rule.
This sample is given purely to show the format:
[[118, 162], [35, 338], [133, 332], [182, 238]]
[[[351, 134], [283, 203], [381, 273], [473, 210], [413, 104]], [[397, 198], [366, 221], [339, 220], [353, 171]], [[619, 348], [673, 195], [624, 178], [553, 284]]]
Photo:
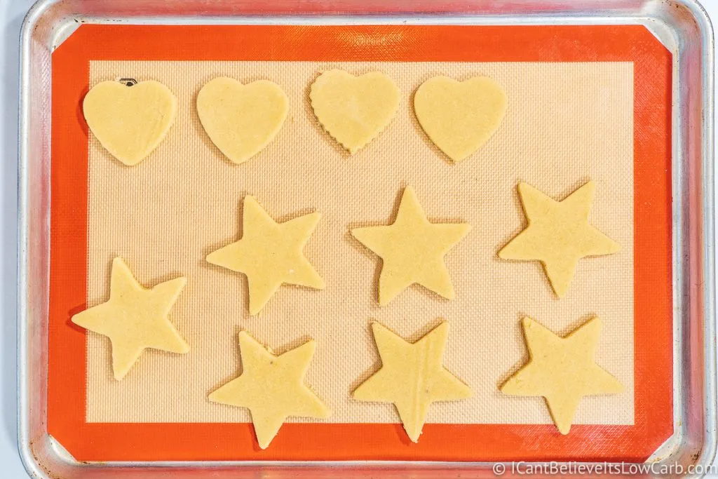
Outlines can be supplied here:
[[[353, 156], [337, 147], [307, 104], [309, 85], [325, 68], [380, 70], [401, 90], [396, 118]], [[211, 144], [195, 111], [197, 91], [219, 75], [244, 83], [269, 79], [289, 96], [279, 135], [238, 166]], [[488, 75], [508, 96], [493, 139], [460, 164], [445, 161], [411, 108], [412, 93], [433, 75]], [[161, 81], [177, 96], [179, 113], [164, 143], [138, 167], [124, 167], [90, 135], [88, 306], [106, 300], [114, 256], [126, 259], [146, 286], [185, 275], [172, 320], [192, 350], [147, 351], [118, 382], [109, 341], [89, 333], [88, 422], [248, 421], [245, 409], [206, 399], [241, 371], [241, 329], [279, 351], [317, 340], [307, 383], [332, 408], [325, 422], [398, 422], [391, 404], [350, 398], [378, 367], [369, 322], [414, 340], [442, 317], [450, 325], [444, 364], [475, 396], [434, 404], [427, 422], [548, 424], [543, 399], [498, 392], [527, 359], [519, 320], [529, 315], [564, 334], [599, 315], [605, 327], [597, 363], [626, 389], [585, 398], [576, 423], [633, 424], [632, 62], [90, 62], [90, 85], [116, 78]], [[525, 225], [519, 181], [560, 199], [587, 180], [597, 182], [591, 223], [622, 250], [580, 261], [569, 294], [559, 300], [539, 264], [500, 261], [495, 253]], [[405, 185], [416, 188], [431, 220], [473, 226], [447, 255], [454, 301], [412, 287], [387, 307], [376, 304], [380, 261], [347, 231], [393, 220]], [[322, 213], [305, 252], [325, 291], [283, 287], [258, 317], [248, 316], [243, 276], [204, 261], [241, 235], [247, 194], [277, 220]]]

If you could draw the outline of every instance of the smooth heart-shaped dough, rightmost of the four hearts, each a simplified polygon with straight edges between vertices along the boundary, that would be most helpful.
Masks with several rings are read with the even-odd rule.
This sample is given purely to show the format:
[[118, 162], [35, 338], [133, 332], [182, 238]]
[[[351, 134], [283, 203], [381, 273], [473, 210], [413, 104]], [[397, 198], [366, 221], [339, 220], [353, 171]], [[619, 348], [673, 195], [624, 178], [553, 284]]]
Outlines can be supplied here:
[[491, 78], [458, 82], [429, 78], [414, 95], [421, 128], [442, 152], [460, 162], [490, 139], [506, 113], [506, 93]]

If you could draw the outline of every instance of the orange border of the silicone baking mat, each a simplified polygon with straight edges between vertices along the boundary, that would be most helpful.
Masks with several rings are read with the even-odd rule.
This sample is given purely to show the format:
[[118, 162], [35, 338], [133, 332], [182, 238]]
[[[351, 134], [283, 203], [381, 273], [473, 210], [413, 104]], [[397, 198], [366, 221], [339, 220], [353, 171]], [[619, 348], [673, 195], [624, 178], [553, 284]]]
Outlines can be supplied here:
[[[381, 37], [355, 48], [356, 34]], [[392, 39], [386, 45], [386, 39]], [[284, 424], [271, 447], [246, 423], [86, 423], [90, 60], [600, 62], [634, 64], [635, 425]], [[671, 54], [641, 26], [81, 26], [52, 55], [47, 429], [78, 460], [627, 460], [673, 432]], [[309, 81], [309, 79], [307, 79]], [[182, 101], [189, 101], [187, 98]], [[187, 384], [186, 387], [192, 387]]]

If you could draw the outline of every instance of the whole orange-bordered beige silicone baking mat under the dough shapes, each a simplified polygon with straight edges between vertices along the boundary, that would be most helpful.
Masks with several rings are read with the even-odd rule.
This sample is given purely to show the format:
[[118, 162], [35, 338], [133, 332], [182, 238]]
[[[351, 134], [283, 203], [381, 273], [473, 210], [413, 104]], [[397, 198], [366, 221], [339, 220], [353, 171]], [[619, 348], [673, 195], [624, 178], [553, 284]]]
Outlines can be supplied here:
[[[645, 458], [671, 427], [669, 67], [642, 27], [80, 27], [53, 56], [51, 434], [82, 460]], [[307, 103], [327, 68], [380, 70], [401, 90], [396, 118], [352, 156]], [[220, 75], [272, 80], [289, 97], [280, 134], [239, 166], [195, 111], [197, 91]], [[497, 133], [460, 164], [445, 161], [411, 108], [434, 75], [490, 76], [508, 96]], [[90, 85], [117, 78], [159, 80], [179, 101], [167, 139], [139, 167], [111, 159], [80, 111]], [[622, 250], [581, 261], [558, 300], [538, 264], [495, 253], [523, 228], [519, 181], [561, 198], [589, 179], [592, 224]], [[388, 223], [406, 185], [430, 219], [474, 228], [447, 256], [457, 299], [411, 288], [379, 308], [378, 260], [347, 231]], [[277, 219], [322, 213], [305, 251], [325, 291], [285, 287], [247, 315], [241, 275], [204, 261], [239, 237], [247, 194]], [[106, 299], [114, 256], [146, 285], [188, 278], [172, 321], [190, 354], [148, 351], [123, 381], [111, 377], [108, 340], [68, 321]], [[584, 399], [566, 437], [543, 399], [498, 392], [527, 358], [523, 315], [561, 334], [604, 320], [597, 363], [626, 390]], [[434, 404], [410, 445], [391, 404], [350, 391], [378, 367], [370, 320], [416, 339], [439, 318], [450, 327], [444, 365], [474, 397]], [[245, 410], [206, 399], [241, 371], [242, 329], [280, 351], [316, 339], [307, 383], [332, 415], [290, 419], [259, 451]], [[153, 434], [162, 443], [142, 447]]]

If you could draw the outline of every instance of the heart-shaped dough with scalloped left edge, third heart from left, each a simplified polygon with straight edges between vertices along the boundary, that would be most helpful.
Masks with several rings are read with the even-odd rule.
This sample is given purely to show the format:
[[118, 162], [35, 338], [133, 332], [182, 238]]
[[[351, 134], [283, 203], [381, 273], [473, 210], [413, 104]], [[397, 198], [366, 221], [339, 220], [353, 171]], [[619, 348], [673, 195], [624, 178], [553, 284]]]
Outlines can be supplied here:
[[325, 130], [354, 153], [394, 117], [399, 89], [381, 72], [355, 77], [344, 70], [329, 70], [314, 80], [309, 98]]

